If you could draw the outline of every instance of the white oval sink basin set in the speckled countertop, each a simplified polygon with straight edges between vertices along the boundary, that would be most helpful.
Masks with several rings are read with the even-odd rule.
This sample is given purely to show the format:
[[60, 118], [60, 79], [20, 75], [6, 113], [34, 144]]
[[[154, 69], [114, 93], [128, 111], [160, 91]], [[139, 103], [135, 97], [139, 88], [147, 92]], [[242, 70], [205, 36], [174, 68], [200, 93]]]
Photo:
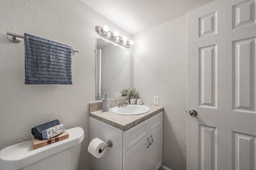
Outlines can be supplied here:
[[142, 105], [128, 105], [126, 107], [114, 107], [113, 113], [120, 115], [140, 115], [150, 111], [150, 108]]

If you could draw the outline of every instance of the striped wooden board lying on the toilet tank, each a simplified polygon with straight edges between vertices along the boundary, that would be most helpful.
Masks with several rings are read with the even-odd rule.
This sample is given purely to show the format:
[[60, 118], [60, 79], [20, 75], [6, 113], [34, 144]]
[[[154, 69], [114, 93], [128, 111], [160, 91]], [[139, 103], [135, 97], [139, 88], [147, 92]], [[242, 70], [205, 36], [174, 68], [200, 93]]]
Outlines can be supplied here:
[[33, 141], [33, 149], [38, 149], [40, 147], [44, 147], [46, 145], [50, 145], [52, 143], [62, 141], [63, 139], [68, 138], [68, 132], [64, 131], [62, 134], [48, 140], [38, 140], [32, 135], [32, 141]]

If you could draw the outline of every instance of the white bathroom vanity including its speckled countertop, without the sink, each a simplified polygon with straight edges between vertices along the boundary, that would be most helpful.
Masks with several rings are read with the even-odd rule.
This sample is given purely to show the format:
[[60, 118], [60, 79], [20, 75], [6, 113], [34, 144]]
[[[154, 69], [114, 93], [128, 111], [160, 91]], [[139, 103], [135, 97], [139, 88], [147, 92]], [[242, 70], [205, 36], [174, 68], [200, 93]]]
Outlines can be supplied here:
[[158, 170], [162, 165], [163, 107], [145, 105], [148, 113], [119, 115], [109, 111], [90, 112], [90, 141], [111, 140], [101, 158], [90, 154], [93, 170]]

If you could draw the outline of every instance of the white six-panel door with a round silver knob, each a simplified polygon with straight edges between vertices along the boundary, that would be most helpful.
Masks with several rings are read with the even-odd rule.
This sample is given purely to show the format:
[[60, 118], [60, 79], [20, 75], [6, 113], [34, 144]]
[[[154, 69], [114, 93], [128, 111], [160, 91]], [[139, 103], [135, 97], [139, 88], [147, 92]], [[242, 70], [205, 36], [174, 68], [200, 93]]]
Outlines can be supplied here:
[[215, 0], [187, 13], [187, 170], [256, 170], [255, 8]]

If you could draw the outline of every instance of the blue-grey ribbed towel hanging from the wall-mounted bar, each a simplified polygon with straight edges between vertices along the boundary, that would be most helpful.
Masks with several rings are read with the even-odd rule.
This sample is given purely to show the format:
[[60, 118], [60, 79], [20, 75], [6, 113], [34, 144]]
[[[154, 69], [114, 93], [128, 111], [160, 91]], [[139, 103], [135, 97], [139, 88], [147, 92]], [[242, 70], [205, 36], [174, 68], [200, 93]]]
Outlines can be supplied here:
[[72, 84], [73, 49], [25, 33], [25, 84]]

